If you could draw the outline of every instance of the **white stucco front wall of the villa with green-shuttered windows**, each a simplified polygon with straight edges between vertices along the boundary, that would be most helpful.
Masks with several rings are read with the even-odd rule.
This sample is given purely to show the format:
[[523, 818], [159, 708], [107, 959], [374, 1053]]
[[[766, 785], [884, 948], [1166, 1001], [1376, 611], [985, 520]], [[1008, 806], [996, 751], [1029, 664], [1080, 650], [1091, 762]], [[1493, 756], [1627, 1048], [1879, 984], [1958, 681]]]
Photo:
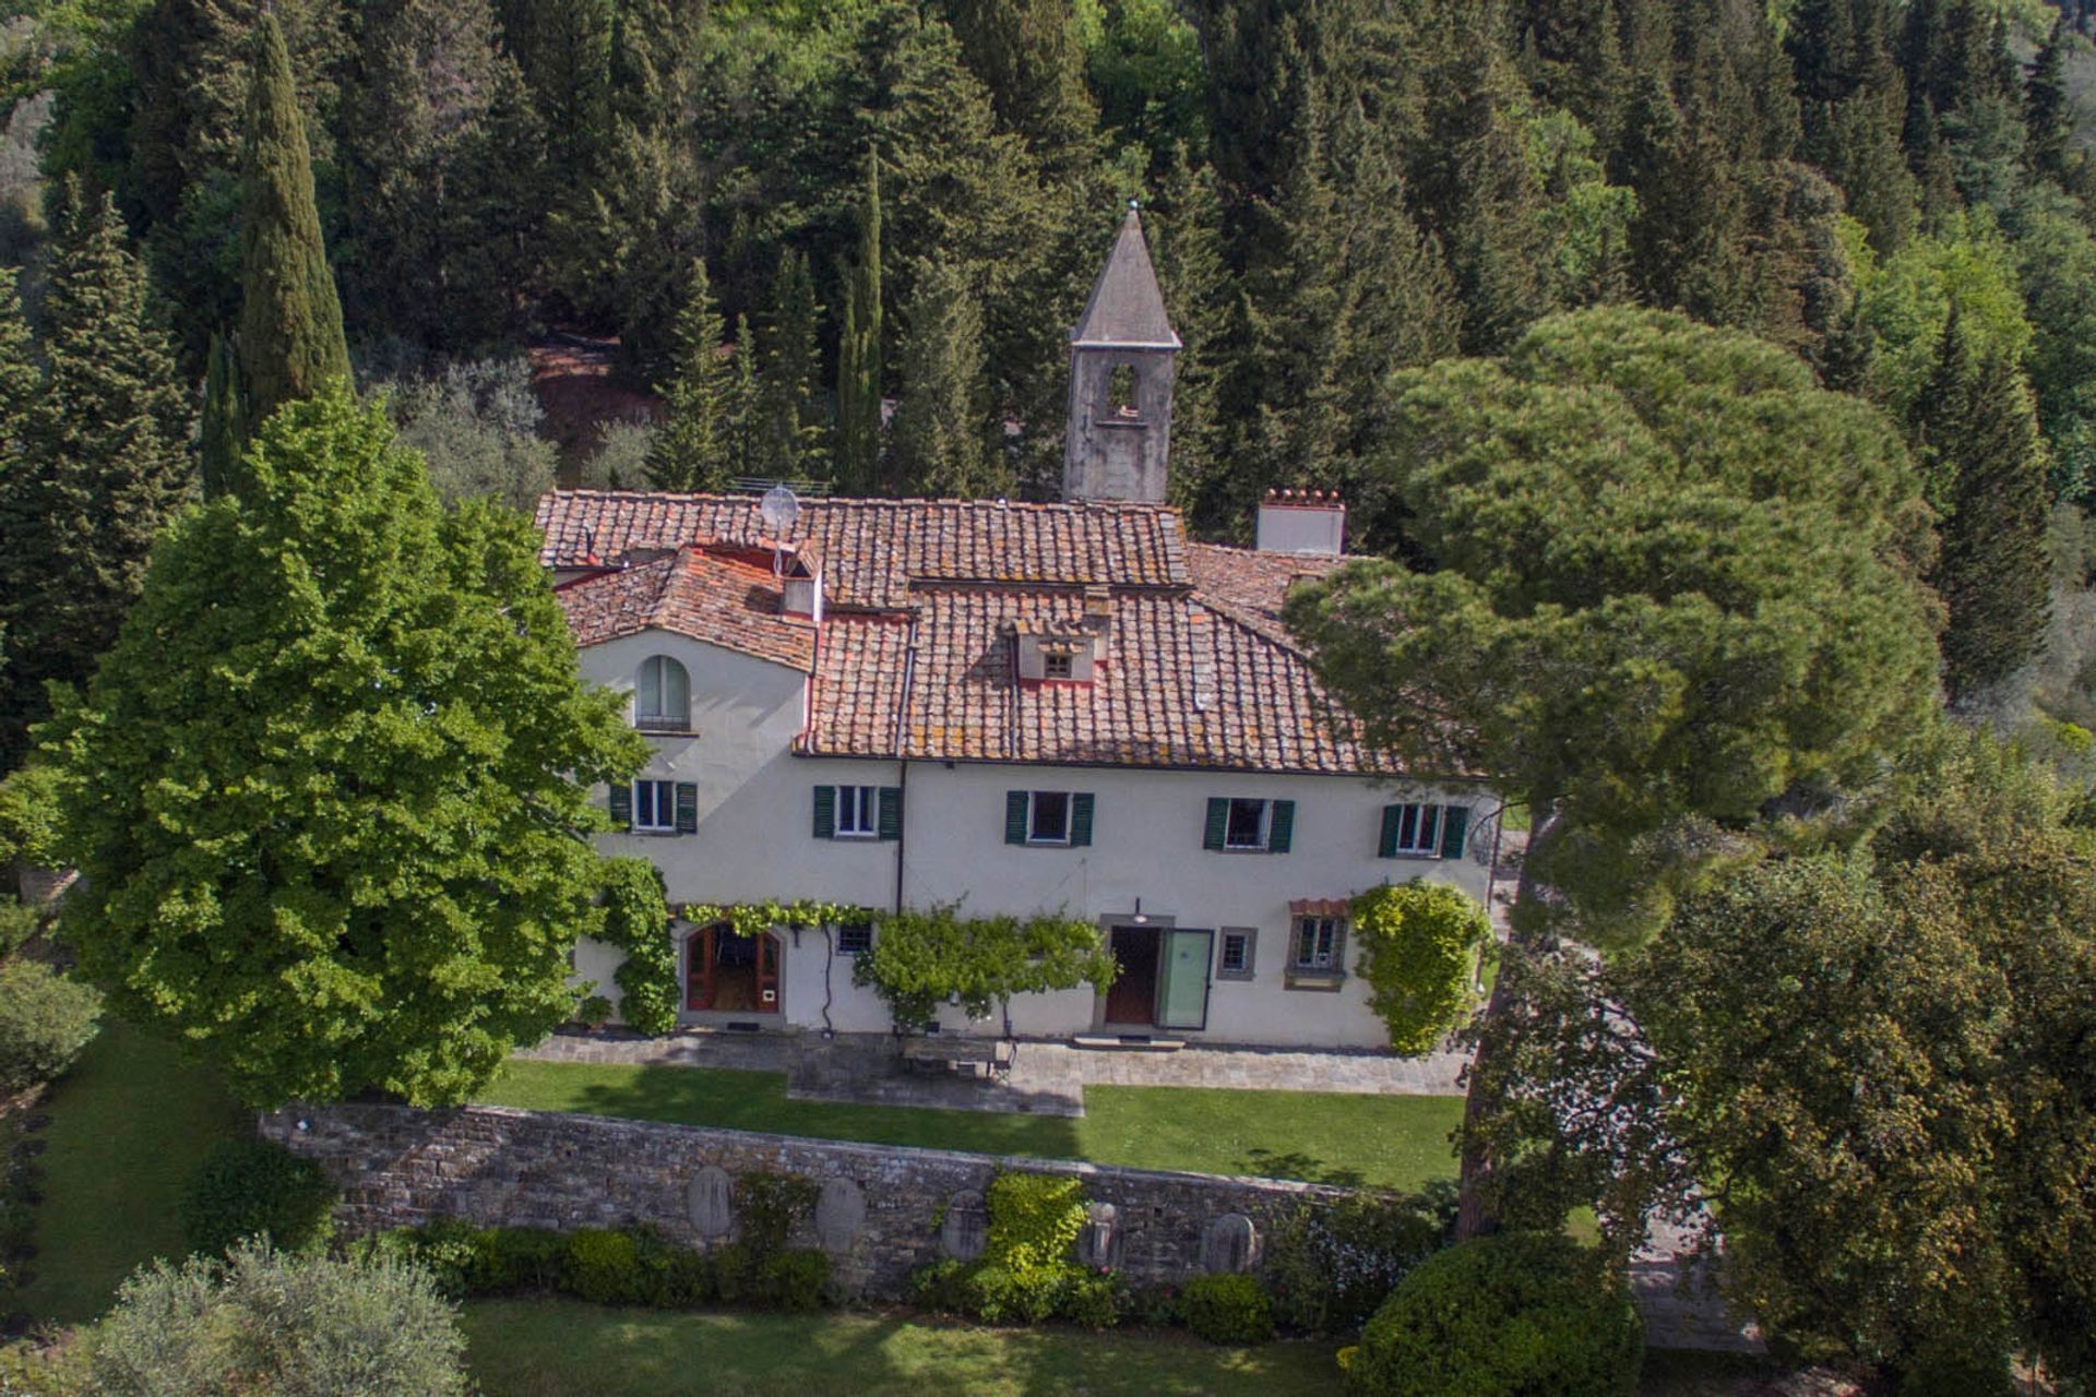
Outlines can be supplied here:
[[[698, 834], [606, 836], [604, 848], [652, 859], [673, 905], [820, 899], [889, 909], [897, 871], [908, 905], [958, 901], [964, 913], [1061, 909], [1105, 922], [1126, 919], [1140, 899], [1144, 915], [1159, 926], [1258, 932], [1253, 978], [1211, 974], [1207, 1028], [1170, 1030], [1172, 1037], [1379, 1047], [1385, 1030], [1369, 1012], [1358, 976], [1339, 993], [1285, 986], [1289, 901], [1346, 899], [1415, 875], [1453, 882], [1480, 901], [1486, 896], [1492, 800], [1482, 792], [1392, 788], [1362, 777], [970, 762], [910, 762], [903, 773], [897, 762], [796, 758], [790, 748], [805, 714], [799, 670], [662, 633], [585, 649], [583, 670], [597, 683], [631, 691], [641, 660], [654, 653], [673, 656], [690, 670], [696, 735], [650, 737], [654, 758], [641, 775], [698, 785]], [[899, 844], [817, 840], [813, 788], [838, 783], [903, 785]], [[1004, 844], [1010, 790], [1090, 792], [1092, 844]], [[1291, 850], [1203, 850], [1211, 796], [1293, 800]], [[1381, 808], [1394, 800], [1471, 804], [1469, 857], [1377, 859]], [[1348, 968], [1352, 961], [1348, 945]], [[576, 951], [578, 978], [595, 980], [612, 999], [616, 963], [618, 953], [610, 947], [585, 943]], [[803, 1028], [828, 1024], [845, 1033], [889, 1026], [880, 1001], [851, 984], [851, 959], [834, 955], [822, 932], [784, 936], [780, 997], [782, 1014], [765, 1020]], [[954, 1030], [1002, 1030], [998, 1020], [968, 1026], [958, 1012], [947, 1014]], [[1031, 995], [1012, 1005], [1012, 1026], [1023, 1035], [1061, 1037], [1098, 1022], [1100, 1001], [1090, 989]]]

